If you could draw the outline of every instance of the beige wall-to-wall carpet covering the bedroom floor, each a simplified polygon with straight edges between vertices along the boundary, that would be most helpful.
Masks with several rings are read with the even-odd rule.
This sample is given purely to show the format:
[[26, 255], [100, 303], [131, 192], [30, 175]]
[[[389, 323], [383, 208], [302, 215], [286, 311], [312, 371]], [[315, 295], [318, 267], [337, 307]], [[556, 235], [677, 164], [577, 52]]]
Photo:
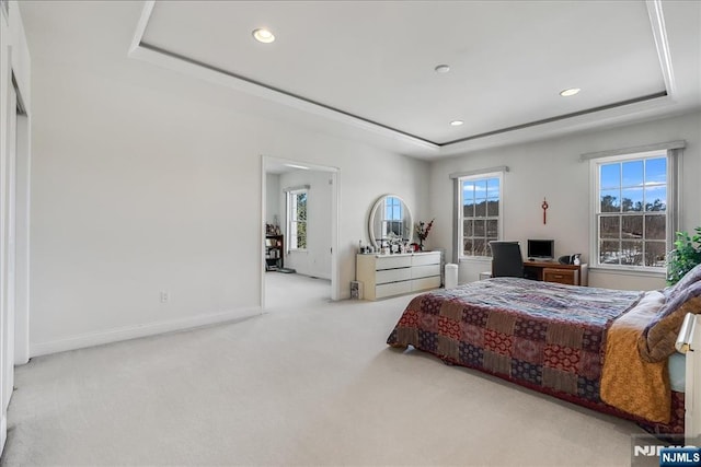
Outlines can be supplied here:
[[262, 316], [18, 367], [2, 463], [630, 465], [631, 422], [387, 348], [410, 296], [274, 275]]

